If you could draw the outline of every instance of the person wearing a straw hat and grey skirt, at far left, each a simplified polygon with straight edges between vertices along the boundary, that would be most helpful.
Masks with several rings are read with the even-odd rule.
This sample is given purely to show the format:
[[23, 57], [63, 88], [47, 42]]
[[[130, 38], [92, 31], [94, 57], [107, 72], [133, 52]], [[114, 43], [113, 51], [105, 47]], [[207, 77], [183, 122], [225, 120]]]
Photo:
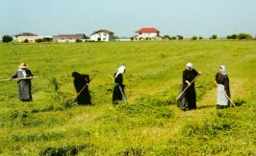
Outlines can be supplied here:
[[18, 70], [11, 78], [21, 78], [17, 81], [17, 97], [22, 101], [32, 101], [31, 78], [33, 74], [26, 63], [20, 63]]

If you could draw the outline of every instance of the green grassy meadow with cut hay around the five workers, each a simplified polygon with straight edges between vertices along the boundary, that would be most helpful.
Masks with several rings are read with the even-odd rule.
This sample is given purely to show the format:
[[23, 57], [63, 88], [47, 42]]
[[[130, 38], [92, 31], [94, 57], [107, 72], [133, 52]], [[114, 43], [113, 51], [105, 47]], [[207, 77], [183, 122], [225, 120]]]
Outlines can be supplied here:
[[[0, 81], [0, 155], [256, 155], [256, 42], [197, 40], [0, 44], [0, 78], [26, 62], [32, 102]], [[176, 97], [186, 64], [197, 109]], [[114, 73], [126, 65], [127, 102], [112, 104]], [[216, 109], [224, 64], [237, 107]], [[89, 74], [92, 106], [77, 106], [71, 73]]]

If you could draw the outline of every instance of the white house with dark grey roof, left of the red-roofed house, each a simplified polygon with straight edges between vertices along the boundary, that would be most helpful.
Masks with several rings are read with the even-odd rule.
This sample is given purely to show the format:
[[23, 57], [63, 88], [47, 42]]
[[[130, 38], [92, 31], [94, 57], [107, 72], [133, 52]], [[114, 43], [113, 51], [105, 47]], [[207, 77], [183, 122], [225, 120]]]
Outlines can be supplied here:
[[114, 33], [107, 30], [99, 30], [90, 34], [90, 40], [94, 41], [111, 41]]

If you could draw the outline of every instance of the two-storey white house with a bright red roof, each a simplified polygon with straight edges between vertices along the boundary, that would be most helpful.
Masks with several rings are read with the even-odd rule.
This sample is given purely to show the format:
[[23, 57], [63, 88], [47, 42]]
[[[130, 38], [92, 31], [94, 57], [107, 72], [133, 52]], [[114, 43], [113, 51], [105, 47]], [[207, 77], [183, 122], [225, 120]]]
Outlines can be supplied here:
[[141, 28], [141, 30], [135, 32], [135, 40], [162, 40], [160, 31], [155, 28]]

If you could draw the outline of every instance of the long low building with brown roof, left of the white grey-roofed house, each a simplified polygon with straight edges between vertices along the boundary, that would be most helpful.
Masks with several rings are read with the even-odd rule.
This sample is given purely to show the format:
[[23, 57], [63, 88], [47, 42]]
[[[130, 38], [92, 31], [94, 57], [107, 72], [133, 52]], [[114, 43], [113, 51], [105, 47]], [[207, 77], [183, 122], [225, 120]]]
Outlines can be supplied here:
[[76, 42], [88, 40], [84, 33], [53, 35], [53, 42]]

